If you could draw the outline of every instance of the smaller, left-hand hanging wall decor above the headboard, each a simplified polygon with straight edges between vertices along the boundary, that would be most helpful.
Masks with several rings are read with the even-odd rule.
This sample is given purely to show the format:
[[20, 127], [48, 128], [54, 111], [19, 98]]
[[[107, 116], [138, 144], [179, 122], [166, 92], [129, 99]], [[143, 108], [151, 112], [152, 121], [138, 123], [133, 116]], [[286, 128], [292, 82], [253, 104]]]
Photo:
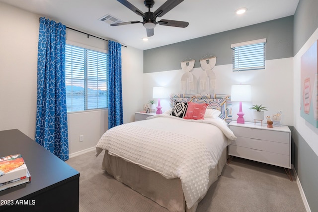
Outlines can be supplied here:
[[194, 67], [195, 60], [181, 62], [181, 68], [185, 72], [181, 77], [181, 90], [185, 94], [190, 94], [194, 91], [195, 81], [191, 70]]

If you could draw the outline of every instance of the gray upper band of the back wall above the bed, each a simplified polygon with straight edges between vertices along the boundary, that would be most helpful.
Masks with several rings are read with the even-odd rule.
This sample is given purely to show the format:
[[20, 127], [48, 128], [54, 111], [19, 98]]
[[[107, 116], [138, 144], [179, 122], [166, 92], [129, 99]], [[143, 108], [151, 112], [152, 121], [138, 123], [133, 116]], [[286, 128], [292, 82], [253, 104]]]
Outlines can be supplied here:
[[144, 51], [144, 73], [181, 69], [180, 62], [198, 62], [206, 55], [217, 57], [216, 65], [232, 64], [231, 44], [266, 38], [266, 60], [293, 57], [293, 21], [288, 16], [234, 30], [174, 43]]

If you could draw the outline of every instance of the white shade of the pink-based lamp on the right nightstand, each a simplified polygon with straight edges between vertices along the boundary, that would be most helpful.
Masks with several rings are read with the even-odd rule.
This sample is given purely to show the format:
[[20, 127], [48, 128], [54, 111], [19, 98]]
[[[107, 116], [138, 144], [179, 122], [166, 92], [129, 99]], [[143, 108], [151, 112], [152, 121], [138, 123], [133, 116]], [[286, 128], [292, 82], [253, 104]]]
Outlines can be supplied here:
[[250, 85], [233, 85], [231, 88], [232, 102], [251, 102]]

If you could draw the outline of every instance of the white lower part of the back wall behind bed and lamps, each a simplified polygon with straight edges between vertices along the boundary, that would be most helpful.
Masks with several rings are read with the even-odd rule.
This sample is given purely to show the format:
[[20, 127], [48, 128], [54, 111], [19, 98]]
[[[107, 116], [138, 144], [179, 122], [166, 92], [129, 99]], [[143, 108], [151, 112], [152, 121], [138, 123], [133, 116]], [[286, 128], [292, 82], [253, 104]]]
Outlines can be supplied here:
[[[198, 79], [201, 70], [201, 68], [194, 68], [191, 72]], [[252, 111], [248, 108], [254, 104], [262, 104], [268, 108], [265, 115], [272, 115], [282, 110], [281, 123], [293, 125], [293, 58], [267, 60], [264, 70], [233, 72], [232, 64], [215, 66], [212, 70], [216, 75], [215, 93], [217, 94], [230, 94], [231, 85], [240, 83], [251, 85], [252, 102], [242, 104], [245, 121], [254, 121]], [[180, 80], [183, 74], [182, 69], [145, 73], [143, 103], [146, 104], [152, 99], [152, 88], [154, 86], [164, 86], [168, 88], [169, 93], [180, 93]], [[160, 103], [163, 111], [168, 109], [167, 99], [161, 100]], [[142, 104], [140, 107], [142, 108]], [[232, 112], [233, 119], [236, 120], [239, 103], [233, 103]]]

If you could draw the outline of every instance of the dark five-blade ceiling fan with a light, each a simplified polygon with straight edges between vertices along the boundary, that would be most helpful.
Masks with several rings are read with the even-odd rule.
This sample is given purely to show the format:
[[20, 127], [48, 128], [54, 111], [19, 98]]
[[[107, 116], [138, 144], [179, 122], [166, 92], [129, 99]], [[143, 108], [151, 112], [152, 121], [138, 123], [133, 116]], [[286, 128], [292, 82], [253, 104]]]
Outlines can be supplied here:
[[122, 3], [124, 6], [128, 7], [130, 10], [135, 12], [136, 14], [143, 17], [144, 21], [129, 21], [129, 22], [121, 22], [121, 23], [113, 23], [110, 24], [111, 26], [120, 26], [120, 25], [126, 25], [126, 24], [132, 24], [132, 23], [142, 23], [147, 31], [147, 36], [153, 36], [154, 35], [154, 28], [156, 27], [156, 24], [159, 23], [159, 25], [164, 26], [175, 26], [175, 27], [182, 27], [185, 28], [189, 25], [188, 22], [185, 21], [177, 21], [177, 20], [166, 20], [161, 19], [159, 21], [156, 21], [157, 17], [161, 17], [168, 11], [170, 11], [172, 8], [174, 8], [176, 5], [181, 3], [183, 0], [167, 0], [165, 1], [155, 12], [151, 12], [150, 8], [152, 8], [155, 4], [154, 0], [145, 0], [145, 6], [148, 7], [148, 12], [142, 12], [137, 7], [135, 7], [133, 4], [128, 2], [127, 0], [117, 0], [120, 3]]

